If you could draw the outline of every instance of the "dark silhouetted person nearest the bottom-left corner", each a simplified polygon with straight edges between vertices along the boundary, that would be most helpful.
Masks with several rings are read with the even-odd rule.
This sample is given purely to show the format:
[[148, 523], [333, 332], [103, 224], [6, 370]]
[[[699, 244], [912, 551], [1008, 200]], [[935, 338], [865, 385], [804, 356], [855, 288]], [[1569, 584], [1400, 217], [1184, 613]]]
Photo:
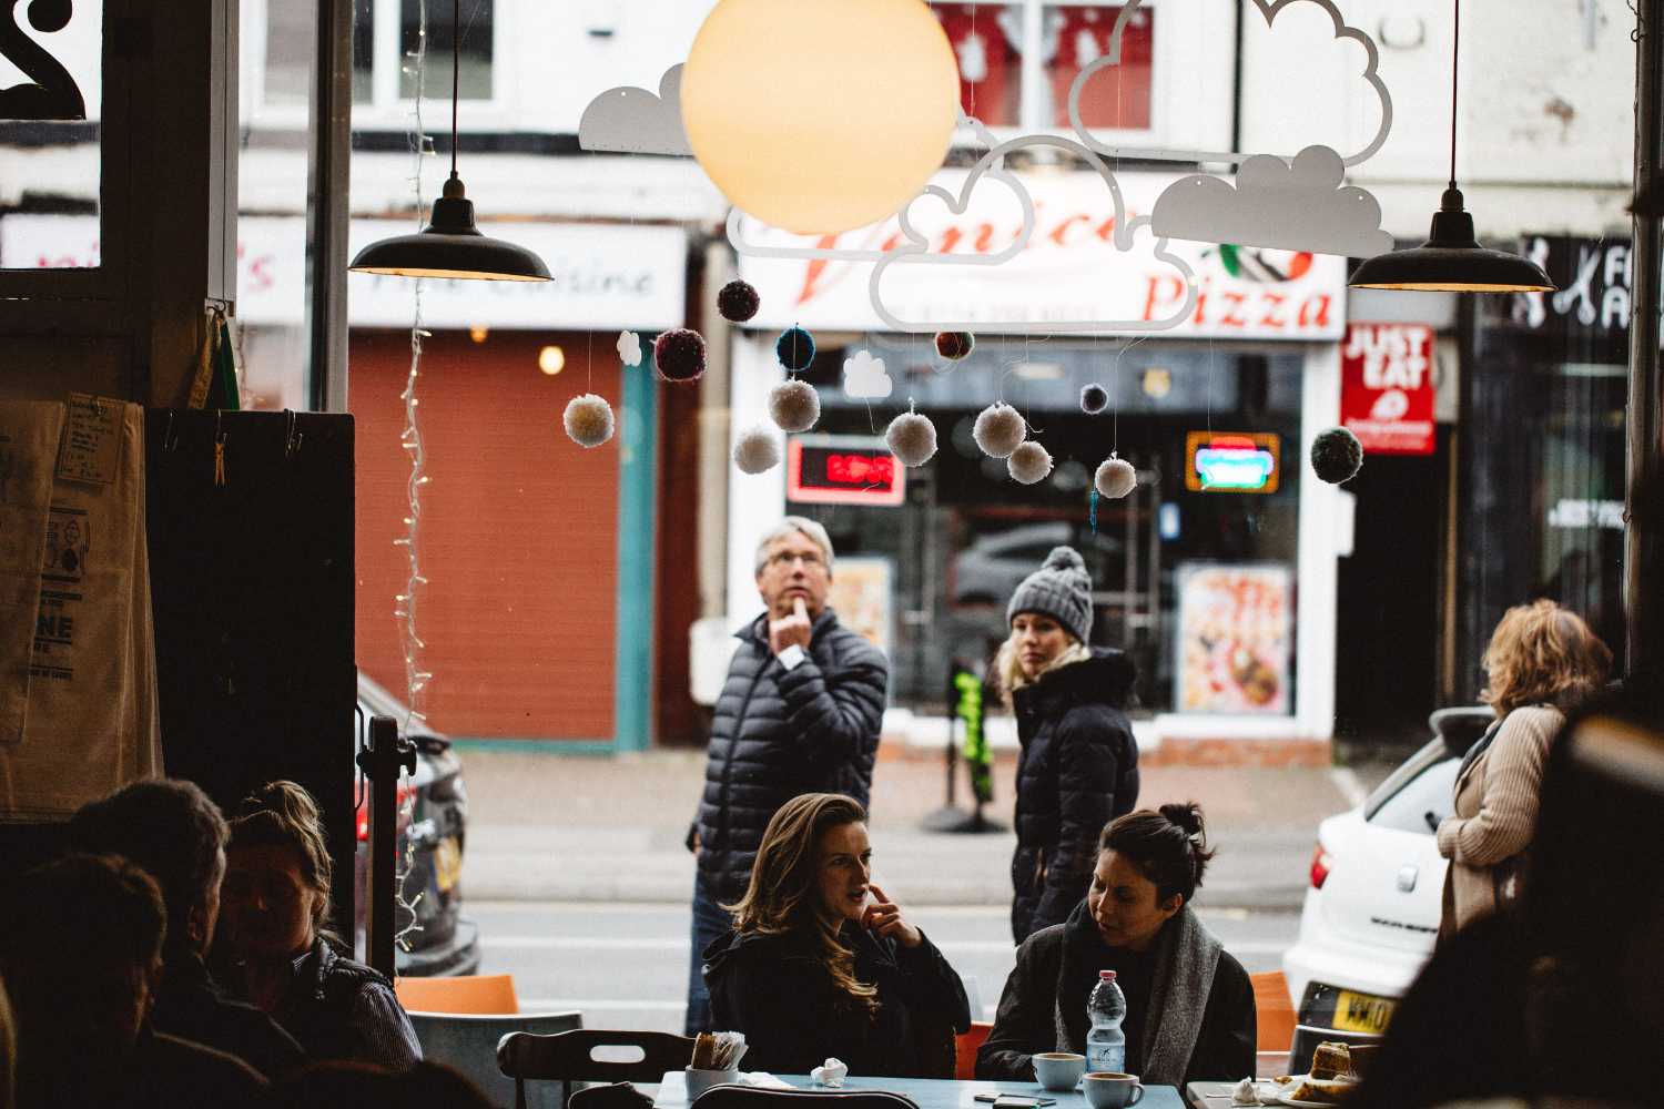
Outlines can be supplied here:
[[13, 886], [0, 976], [17, 1008], [18, 1106], [265, 1106], [241, 1059], [158, 1033], [166, 914], [156, 883], [108, 855], [70, 855]]

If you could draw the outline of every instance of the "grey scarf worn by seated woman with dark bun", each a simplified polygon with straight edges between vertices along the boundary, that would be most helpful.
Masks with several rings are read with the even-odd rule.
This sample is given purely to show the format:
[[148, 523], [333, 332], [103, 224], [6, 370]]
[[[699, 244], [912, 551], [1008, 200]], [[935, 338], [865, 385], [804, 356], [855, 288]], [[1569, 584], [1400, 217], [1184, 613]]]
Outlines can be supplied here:
[[[1073, 923], [1072, 919], [1070, 924]], [[1183, 1086], [1225, 946], [1201, 926], [1188, 904], [1161, 928], [1155, 943], [1155, 979], [1150, 984], [1150, 1013], [1143, 1024], [1145, 1057], [1138, 1077], [1151, 1086]], [[1073, 993], [1063, 983], [1080, 981], [1098, 971], [1085, 966], [1082, 954], [1080, 944], [1070, 943], [1065, 933], [1053, 1019], [1057, 1049], [1077, 1054], [1087, 1051], [1087, 1013], [1063, 1013], [1062, 999]]]

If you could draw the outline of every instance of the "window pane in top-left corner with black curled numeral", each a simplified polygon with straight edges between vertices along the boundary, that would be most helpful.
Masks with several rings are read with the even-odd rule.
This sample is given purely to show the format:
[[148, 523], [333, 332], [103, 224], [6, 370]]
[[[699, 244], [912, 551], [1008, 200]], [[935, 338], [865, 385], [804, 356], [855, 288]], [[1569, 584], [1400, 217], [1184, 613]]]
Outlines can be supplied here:
[[[35, 116], [0, 120], [0, 269], [90, 269], [102, 261], [102, 7], [77, 3], [62, 30], [35, 30], [35, 57], [0, 52], [0, 91], [10, 93], [0, 115]], [[32, 30], [28, 8], [0, 5], [0, 20]], [[30, 95], [30, 85], [58, 91]]]

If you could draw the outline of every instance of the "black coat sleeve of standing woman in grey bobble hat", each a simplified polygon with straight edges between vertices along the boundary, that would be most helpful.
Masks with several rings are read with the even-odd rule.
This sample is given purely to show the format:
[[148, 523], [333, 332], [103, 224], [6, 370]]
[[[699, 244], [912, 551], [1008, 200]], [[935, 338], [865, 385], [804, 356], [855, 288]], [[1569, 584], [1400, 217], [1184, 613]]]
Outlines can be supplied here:
[[1057, 730], [1058, 840], [1045, 871], [1045, 891], [1030, 928], [1062, 924], [1087, 896], [1098, 835], [1113, 820], [1118, 752], [1133, 743], [1125, 717], [1102, 705], [1072, 710]]

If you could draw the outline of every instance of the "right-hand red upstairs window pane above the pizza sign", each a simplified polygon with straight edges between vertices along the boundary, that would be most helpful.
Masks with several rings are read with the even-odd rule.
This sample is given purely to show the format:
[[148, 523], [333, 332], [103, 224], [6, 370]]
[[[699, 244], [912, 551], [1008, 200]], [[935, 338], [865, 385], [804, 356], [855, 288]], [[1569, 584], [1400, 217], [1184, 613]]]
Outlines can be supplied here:
[[[1113, 5], [1050, 5], [1045, 12], [1047, 81], [1037, 95], [1050, 96], [1040, 113], [1052, 126], [1068, 128], [1068, 90], [1075, 76], [1110, 53], [1115, 22]], [[1080, 93], [1080, 118], [1090, 128], [1150, 130], [1150, 78], [1155, 45], [1155, 12], [1138, 8], [1122, 28], [1122, 63], [1100, 70]]]

